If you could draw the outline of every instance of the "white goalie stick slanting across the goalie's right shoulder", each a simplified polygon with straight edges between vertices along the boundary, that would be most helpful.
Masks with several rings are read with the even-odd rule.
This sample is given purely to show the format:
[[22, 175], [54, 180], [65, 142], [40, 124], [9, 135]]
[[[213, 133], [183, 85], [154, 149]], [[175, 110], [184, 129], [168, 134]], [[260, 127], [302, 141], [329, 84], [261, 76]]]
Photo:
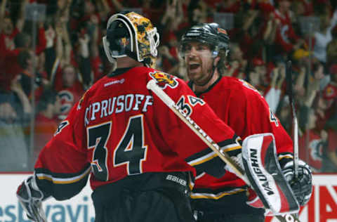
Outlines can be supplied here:
[[[242, 169], [237, 162], [234, 162], [226, 152], [223, 152], [218, 144], [216, 144], [190, 117], [187, 117], [185, 112], [181, 110], [180, 107], [176, 105], [176, 103], [174, 103], [174, 101], [157, 85], [154, 79], [147, 83], [147, 89], [153, 91], [170, 108], [170, 110], [172, 110], [202, 141], [204, 141], [204, 143], [206, 143], [206, 145], [209, 146], [209, 148], [211, 148], [211, 150], [216, 152], [220, 159], [232, 167], [239, 178], [242, 178], [247, 185], [251, 186], [249, 179], [244, 174], [244, 169]], [[281, 222], [300, 222], [298, 218], [292, 214], [286, 214], [284, 216], [276, 215], [275, 217]]]

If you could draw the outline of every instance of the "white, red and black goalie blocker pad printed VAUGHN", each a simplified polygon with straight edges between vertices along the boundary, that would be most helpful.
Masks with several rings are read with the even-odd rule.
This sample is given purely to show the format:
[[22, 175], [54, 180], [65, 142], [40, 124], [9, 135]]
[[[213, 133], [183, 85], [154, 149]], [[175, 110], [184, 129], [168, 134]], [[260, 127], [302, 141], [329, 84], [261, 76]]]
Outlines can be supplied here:
[[245, 138], [242, 157], [246, 176], [265, 208], [275, 215], [297, 213], [299, 205], [279, 166], [272, 133]]

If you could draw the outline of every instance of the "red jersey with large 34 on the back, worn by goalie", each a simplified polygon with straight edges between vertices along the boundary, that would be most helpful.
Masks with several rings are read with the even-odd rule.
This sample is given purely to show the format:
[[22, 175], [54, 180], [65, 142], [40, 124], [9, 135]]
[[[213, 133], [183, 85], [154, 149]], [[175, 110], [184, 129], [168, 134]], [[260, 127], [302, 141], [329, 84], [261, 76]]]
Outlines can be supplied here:
[[[56, 200], [76, 195], [91, 174], [91, 187], [146, 172], [225, 173], [224, 163], [152, 91], [164, 91], [223, 148], [241, 149], [237, 136], [185, 82], [148, 67], [103, 77], [72, 107], [39, 154], [39, 188]], [[188, 163], [188, 164], [187, 164]]]

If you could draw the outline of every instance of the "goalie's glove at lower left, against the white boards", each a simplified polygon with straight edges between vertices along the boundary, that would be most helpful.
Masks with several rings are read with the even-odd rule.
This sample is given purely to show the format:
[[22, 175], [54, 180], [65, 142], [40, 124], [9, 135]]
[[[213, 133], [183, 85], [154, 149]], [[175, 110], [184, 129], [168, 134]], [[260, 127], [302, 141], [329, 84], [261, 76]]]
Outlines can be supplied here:
[[34, 176], [29, 176], [29, 178], [21, 183], [16, 196], [30, 220], [37, 222], [46, 221], [46, 215], [41, 204], [42, 200], [44, 200], [44, 193], [39, 190]]

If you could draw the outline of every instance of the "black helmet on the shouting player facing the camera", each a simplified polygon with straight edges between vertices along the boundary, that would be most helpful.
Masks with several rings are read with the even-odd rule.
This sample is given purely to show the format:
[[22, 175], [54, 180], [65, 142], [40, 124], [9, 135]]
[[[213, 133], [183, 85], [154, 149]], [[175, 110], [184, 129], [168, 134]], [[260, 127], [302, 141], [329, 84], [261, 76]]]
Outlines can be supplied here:
[[220, 50], [225, 51], [225, 55], [229, 52], [230, 37], [226, 30], [223, 30], [218, 23], [201, 23], [194, 25], [187, 30], [180, 41], [180, 56], [184, 58], [185, 46], [190, 41], [199, 41], [202, 44], [211, 46], [213, 57], [218, 56]]

